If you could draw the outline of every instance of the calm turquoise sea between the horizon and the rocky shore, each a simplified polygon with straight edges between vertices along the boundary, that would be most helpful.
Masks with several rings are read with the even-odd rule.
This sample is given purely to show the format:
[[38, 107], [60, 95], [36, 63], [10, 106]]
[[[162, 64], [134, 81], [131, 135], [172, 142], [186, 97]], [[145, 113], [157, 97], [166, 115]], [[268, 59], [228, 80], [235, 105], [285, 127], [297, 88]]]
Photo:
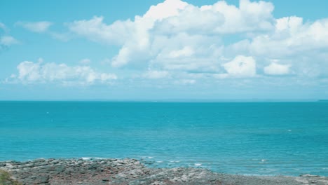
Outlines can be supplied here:
[[80, 157], [328, 176], [328, 103], [0, 102], [0, 160]]

